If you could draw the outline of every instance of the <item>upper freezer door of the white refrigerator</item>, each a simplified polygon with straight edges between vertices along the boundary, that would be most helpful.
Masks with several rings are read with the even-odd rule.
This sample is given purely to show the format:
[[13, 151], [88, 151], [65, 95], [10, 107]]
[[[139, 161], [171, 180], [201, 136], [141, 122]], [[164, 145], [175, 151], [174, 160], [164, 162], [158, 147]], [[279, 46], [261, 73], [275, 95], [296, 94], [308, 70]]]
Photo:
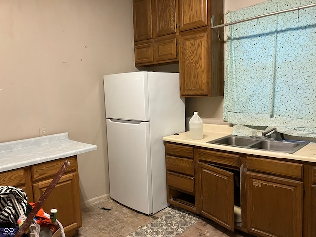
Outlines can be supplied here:
[[106, 118], [149, 121], [147, 72], [104, 76]]

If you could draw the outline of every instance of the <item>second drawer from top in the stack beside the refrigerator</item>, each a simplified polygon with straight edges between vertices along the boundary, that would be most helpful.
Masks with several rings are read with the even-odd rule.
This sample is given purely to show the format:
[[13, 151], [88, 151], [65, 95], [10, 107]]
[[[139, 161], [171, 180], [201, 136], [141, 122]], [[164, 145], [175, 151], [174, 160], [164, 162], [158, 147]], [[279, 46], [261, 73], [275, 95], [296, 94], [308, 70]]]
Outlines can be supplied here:
[[193, 176], [193, 159], [166, 156], [166, 168], [170, 171]]

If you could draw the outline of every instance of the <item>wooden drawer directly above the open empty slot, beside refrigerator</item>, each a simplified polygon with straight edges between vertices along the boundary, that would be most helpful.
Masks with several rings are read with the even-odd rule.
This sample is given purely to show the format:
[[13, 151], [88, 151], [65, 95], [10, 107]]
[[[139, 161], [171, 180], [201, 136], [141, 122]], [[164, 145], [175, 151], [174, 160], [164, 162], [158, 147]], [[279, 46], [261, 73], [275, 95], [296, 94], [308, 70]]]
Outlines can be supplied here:
[[167, 172], [167, 186], [194, 193], [194, 178], [182, 174]]

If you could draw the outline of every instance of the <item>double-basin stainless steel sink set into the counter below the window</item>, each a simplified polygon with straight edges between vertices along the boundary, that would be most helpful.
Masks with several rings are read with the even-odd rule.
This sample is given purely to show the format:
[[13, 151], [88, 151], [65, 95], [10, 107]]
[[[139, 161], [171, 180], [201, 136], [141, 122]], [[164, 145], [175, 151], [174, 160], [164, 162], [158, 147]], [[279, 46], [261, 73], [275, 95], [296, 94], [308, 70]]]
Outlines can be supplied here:
[[261, 137], [243, 137], [229, 135], [207, 143], [220, 144], [226, 146], [243, 147], [256, 150], [275, 151], [284, 153], [294, 153], [309, 142], [296, 140], [270, 140]]

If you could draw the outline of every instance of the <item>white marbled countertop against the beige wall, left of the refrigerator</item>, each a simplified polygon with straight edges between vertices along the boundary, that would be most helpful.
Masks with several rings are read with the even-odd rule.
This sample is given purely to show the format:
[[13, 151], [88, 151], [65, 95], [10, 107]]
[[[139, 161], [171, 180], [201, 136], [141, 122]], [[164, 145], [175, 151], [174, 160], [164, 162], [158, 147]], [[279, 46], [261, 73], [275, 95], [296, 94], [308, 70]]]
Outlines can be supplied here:
[[68, 133], [0, 143], [0, 172], [96, 150], [96, 145], [69, 140]]

